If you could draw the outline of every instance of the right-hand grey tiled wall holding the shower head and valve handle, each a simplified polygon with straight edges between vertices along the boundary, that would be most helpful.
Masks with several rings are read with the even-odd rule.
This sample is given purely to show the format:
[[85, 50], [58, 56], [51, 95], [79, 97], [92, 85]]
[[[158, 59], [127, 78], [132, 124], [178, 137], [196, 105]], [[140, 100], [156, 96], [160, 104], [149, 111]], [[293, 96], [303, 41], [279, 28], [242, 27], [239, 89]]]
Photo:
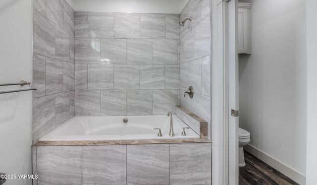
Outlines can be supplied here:
[[[180, 13], [180, 105], [208, 122], [211, 138], [211, 19], [210, 0], [190, 0]], [[191, 99], [182, 93], [193, 86]]]

